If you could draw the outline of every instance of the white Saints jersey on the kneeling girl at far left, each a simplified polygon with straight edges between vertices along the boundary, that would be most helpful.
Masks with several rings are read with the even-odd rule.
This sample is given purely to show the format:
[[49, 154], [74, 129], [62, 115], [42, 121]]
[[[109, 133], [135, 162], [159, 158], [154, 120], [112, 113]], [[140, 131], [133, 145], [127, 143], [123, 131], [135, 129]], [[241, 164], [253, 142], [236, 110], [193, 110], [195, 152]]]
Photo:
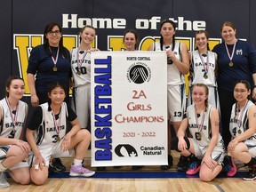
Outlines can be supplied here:
[[0, 106], [2, 108], [0, 136], [3, 138], [20, 139], [20, 134], [24, 128], [26, 116], [28, 113], [27, 103], [19, 100], [15, 115], [10, 111], [7, 100], [5, 98], [0, 100]]

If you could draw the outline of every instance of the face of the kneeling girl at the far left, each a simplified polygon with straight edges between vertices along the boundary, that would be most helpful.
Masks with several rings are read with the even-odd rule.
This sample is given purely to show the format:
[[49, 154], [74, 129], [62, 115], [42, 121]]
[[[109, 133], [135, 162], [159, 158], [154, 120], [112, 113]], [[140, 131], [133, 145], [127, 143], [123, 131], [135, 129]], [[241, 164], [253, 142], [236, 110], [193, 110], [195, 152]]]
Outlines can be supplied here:
[[6, 87], [7, 97], [14, 100], [20, 100], [25, 92], [25, 84], [21, 79], [13, 79], [10, 86]]

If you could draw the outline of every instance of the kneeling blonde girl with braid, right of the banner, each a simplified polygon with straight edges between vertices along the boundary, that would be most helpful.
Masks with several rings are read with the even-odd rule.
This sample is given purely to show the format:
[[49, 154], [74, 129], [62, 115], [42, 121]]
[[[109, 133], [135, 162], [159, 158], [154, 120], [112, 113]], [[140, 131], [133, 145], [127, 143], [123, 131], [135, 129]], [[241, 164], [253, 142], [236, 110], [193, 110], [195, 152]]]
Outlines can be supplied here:
[[[205, 84], [194, 84], [192, 87], [193, 104], [188, 106], [187, 114], [180, 124], [176, 142], [176, 150], [182, 156], [193, 158], [187, 174], [196, 174], [203, 181], [213, 180], [222, 170], [221, 163], [224, 157], [224, 145], [219, 133], [219, 113], [216, 108], [208, 104], [208, 88]], [[186, 137], [189, 129], [192, 138]]]

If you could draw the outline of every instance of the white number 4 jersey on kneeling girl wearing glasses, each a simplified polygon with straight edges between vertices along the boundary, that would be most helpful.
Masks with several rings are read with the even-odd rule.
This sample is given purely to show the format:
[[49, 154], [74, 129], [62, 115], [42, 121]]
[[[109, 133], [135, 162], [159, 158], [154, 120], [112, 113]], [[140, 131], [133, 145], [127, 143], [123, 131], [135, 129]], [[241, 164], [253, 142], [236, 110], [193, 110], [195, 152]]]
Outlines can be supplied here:
[[[248, 100], [244, 106], [244, 109], [242, 108], [241, 110], [236, 109], [236, 103], [232, 106], [229, 131], [233, 137], [237, 137], [249, 129], [248, 113], [252, 106], [254, 106], [254, 104], [251, 100]], [[256, 140], [256, 132], [247, 140]]]

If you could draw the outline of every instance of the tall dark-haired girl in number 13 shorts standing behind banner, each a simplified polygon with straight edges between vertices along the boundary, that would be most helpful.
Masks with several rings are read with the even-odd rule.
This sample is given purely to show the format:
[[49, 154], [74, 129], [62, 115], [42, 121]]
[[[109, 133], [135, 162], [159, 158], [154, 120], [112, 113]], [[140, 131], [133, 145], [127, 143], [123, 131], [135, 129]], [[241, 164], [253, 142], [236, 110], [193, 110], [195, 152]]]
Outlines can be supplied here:
[[[172, 123], [177, 132], [186, 108], [185, 75], [189, 71], [188, 48], [186, 44], [175, 40], [176, 25], [172, 20], [161, 22], [160, 34], [160, 42], [151, 44], [148, 51], [166, 52], [168, 122]], [[162, 170], [168, 170], [172, 166], [170, 123], [168, 124], [168, 165], [162, 165]]]

